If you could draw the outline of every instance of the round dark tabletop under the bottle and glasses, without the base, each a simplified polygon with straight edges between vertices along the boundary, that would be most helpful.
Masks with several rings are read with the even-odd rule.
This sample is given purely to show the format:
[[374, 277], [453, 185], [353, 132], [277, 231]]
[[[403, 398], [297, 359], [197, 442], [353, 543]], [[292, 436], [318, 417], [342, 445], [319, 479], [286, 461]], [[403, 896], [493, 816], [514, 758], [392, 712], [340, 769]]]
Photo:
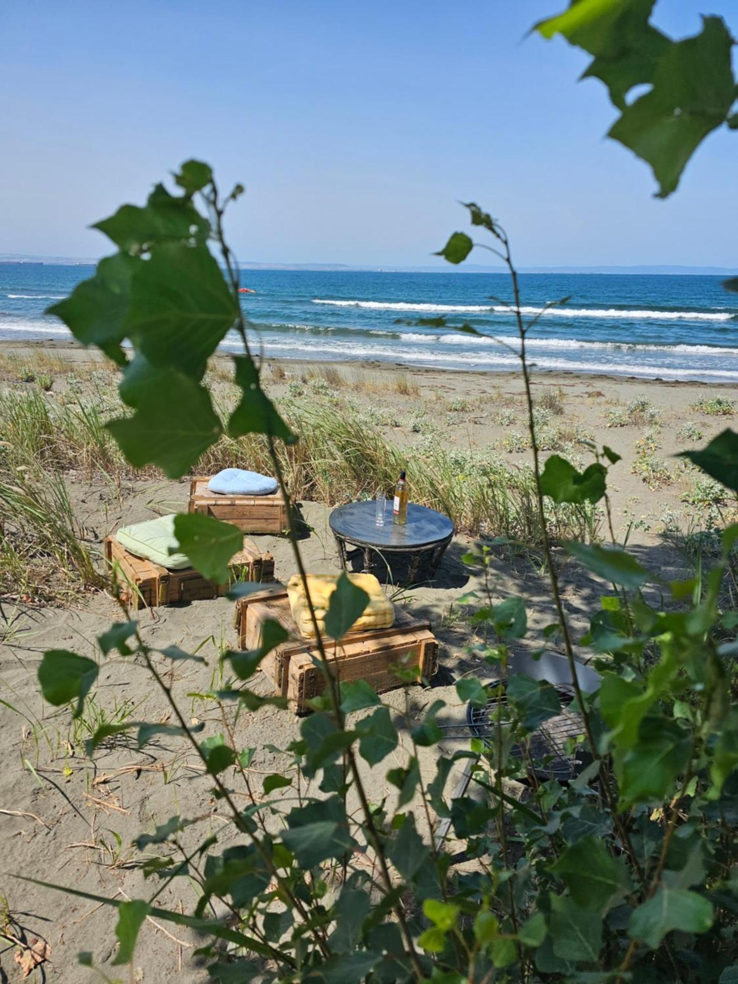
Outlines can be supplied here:
[[376, 509], [377, 504], [371, 499], [339, 506], [331, 514], [331, 529], [351, 543], [388, 550], [432, 547], [448, 540], [454, 533], [454, 523], [448, 516], [425, 506], [409, 503], [404, 525], [393, 523], [392, 499], [387, 500], [384, 526], [374, 522]]

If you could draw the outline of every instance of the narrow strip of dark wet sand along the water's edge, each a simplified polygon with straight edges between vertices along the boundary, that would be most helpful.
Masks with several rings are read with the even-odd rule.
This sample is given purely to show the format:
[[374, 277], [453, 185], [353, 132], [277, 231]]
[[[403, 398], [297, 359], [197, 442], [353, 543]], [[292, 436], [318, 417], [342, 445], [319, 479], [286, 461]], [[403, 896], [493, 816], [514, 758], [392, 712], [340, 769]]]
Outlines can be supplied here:
[[[24, 351], [37, 351], [41, 350], [53, 350], [55, 353], [68, 353], [68, 357], [71, 362], [74, 361], [104, 361], [103, 356], [96, 354], [95, 350], [92, 348], [86, 348], [79, 341], [74, 338], [44, 338], [37, 341], [33, 339], [19, 339], [18, 341], [11, 338], [0, 338], [0, 352], [24, 352]], [[77, 353], [77, 354], [73, 354]], [[215, 352], [213, 358], [216, 360], [228, 359], [229, 353], [218, 350]], [[545, 380], [546, 385], [550, 386], [555, 384], [556, 381], [561, 377], [563, 379], [570, 380], [572, 382], [586, 383], [587, 381], [596, 382], [607, 382], [610, 384], [630, 384], [636, 386], [664, 386], [664, 387], [701, 387], [701, 388], [713, 388], [720, 387], [721, 389], [731, 389], [738, 391], [738, 384], [729, 381], [716, 381], [716, 380], [700, 380], [700, 379], [664, 379], [662, 376], [633, 376], [625, 375], [624, 373], [605, 373], [605, 372], [583, 372], [581, 370], [569, 370], [569, 369], [541, 369], [535, 366], [535, 360], [532, 359], [531, 375], [533, 377], [533, 382], [537, 380]], [[392, 373], [406, 373], [408, 375], [420, 375], [423, 377], [438, 376], [440, 378], [463, 378], [471, 377], [478, 381], [479, 379], [489, 379], [495, 385], [501, 384], [503, 381], [510, 381], [511, 379], [516, 379], [520, 375], [519, 369], [455, 369], [452, 367], [444, 366], [439, 368], [438, 366], [428, 366], [422, 363], [412, 364], [405, 362], [396, 361], [384, 361], [381, 359], [309, 359], [309, 358], [289, 358], [282, 355], [279, 356], [268, 356], [265, 355], [262, 358], [262, 363], [265, 366], [277, 363], [279, 365], [289, 365], [304, 367], [306, 369], [314, 367], [327, 368], [334, 366], [338, 371], [348, 369], [364, 372], [392, 372]]]

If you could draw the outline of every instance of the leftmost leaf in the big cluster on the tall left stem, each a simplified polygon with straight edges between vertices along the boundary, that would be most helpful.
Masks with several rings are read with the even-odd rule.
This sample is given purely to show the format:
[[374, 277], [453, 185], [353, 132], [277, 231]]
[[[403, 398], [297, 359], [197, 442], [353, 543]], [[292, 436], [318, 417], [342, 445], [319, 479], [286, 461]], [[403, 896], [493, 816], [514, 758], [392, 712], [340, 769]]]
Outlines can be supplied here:
[[94, 277], [78, 283], [69, 297], [52, 304], [47, 314], [60, 318], [83, 345], [96, 345], [123, 365], [120, 343], [126, 337], [123, 322], [128, 311], [131, 279], [141, 261], [117, 254], [97, 264]]

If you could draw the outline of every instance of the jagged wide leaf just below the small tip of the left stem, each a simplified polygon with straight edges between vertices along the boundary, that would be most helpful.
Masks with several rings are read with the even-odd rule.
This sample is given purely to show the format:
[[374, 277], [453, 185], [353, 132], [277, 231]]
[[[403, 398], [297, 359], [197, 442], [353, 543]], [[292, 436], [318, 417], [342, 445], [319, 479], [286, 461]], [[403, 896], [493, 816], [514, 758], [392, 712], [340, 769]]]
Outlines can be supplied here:
[[158, 243], [204, 243], [210, 223], [189, 198], [177, 198], [163, 185], [156, 185], [146, 206], [122, 205], [115, 215], [95, 222], [92, 228], [104, 233], [122, 254], [139, 255]]

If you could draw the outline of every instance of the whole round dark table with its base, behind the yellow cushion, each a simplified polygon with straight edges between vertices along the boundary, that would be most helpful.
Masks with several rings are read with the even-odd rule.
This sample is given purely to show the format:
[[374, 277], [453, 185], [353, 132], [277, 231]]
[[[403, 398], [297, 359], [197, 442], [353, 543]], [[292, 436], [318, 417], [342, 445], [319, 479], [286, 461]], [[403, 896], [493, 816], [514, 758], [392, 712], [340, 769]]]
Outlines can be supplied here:
[[[339, 506], [331, 514], [331, 529], [338, 544], [340, 562], [345, 568], [346, 560], [356, 553], [364, 555], [364, 570], [371, 566], [372, 554], [409, 554], [410, 568], [408, 581], [417, 574], [420, 561], [429, 562], [431, 577], [436, 573], [446, 548], [454, 535], [454, 523], [443, 513], [425, 506], [409, 503], [407, 523], [394, 523], [392, 500], [388, 499], [385, 511], [385, 524], [378, 526], [376, 521], [377, 504], [373, 499], [367, 502], [349, 502]], [[346, 544], [357, 549], [347, 552]], [[387, 561], [385, 560], [385, 563]]]

